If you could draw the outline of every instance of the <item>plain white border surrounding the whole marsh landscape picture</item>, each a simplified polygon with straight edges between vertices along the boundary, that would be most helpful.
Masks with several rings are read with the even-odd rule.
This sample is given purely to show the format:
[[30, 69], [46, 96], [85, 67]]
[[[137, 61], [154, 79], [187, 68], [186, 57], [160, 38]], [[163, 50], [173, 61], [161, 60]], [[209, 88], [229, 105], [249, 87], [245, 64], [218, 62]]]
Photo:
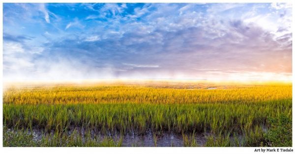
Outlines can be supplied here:
[[[246, 2], [246, 3], [261, 3], [261, 2], [288, 2], [294, 4], [292, 0], [1, 0], [0, 2], [0, 93], [3, 94], [3, 3], [18, 3], [18, 2], [156, 2], [156, 3], [168, 3], [168, 2], [176, 2], [176, 3], [195, 3], [195, 2]], [[294, 14], [295, 9], [292, 10], [293, 12], [293, 21], [292, 21], [292, 30], [294, 32]], [[294, 49], [295, 45], [292, 45], [292, 59], [295, 59]], [[292, 72], [295, 72], [295, 63], [292, 62]], [[292, 75], [292, 82], [295, 81], [295, 76]], [[295, 87], [293, 86], [293, 106], [294, 106], [294, 91]], [[32, 154], [32, 153], [43, 153], [43, 154], [53, 154], [53, 153], [60, 153], [60, 154], [83, 154], [83, 153], [118, 153], [118, 154], [185, 154], [185, 153], [226, 153], [226, 154], [249, 154], [249, 153], [262, 153], [262, 152], [254, 152], [255, 149], [273, 149], [273, 148], [246, 148], [246, 147], [232, 147], [232, 148], [220, 148], [220, 147], [196, 147], [196, 148], [186, 148], [186, 147], [164, 147], [164, 148], [151, 148], [151, 147], [120, 147], [120, 148], [10, 148], [10, 147], [2, 147], [3, 146], [3, 95], [0, 95], [0, 151], [2, 154]], [[294, 109], [292, 108], [293, 119], [295, 117]], [[293, 123], [293, 147], [295, 145], [295, 124]], [[275, 148], [277, 149], [277, 148]], [[290, 148], [284, 148], [290, 149]], [[291, 148], [294, 150], [294, 148]], [[277, 153], [277, 152], [275, 152]], [[287, 153], [287, 152], [286, 152]]]

